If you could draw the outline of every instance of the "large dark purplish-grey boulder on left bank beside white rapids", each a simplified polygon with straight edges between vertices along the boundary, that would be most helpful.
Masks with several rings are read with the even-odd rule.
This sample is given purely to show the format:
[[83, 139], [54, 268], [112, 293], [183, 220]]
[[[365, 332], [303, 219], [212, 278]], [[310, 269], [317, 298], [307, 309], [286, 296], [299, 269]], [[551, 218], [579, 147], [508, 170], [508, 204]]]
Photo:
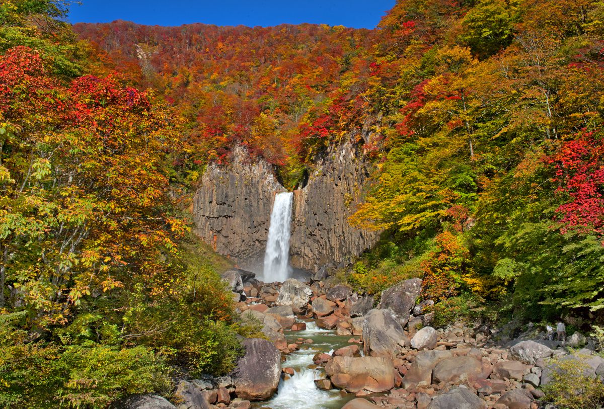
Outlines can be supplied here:
[[248, 401], [271, 398], [281, 378], [281, 352], [260, 338], [248, 338], [242, 344], [245, 355], [233, 373], [237, 397]]

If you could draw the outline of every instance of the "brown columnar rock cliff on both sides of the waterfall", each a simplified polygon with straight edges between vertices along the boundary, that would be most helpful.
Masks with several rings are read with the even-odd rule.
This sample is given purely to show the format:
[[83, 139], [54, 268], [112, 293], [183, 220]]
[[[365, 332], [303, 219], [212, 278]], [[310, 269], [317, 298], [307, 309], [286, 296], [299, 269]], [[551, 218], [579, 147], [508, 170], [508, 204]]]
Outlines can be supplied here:
[[[193, 201], [194, 232], [240, 267], [260, 271], [274, 197], [285, 189], [271, 165], [246, 157], [237, 148], [230, 165], [208, 166]], [[367, 175], [367, 163], [350, 142], [316, 163], [307, 185], [294, 192], [293, 267], [316, 271], [376, 243], [378, 233], [355, 229], [347, 221], [361, 200]]]

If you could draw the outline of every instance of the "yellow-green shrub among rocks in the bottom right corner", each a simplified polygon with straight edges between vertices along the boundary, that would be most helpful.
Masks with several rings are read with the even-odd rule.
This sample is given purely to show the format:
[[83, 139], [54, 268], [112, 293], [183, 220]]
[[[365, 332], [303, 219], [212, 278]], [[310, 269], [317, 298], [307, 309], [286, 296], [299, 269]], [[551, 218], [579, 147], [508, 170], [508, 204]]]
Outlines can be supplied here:
[[587, 375], [589, 364], [577, 360], [558, 360], [553, 365], [551, 382], [543, 387], [545, 399], [559, 408], [595, 409], [604, 403], [604, 384]]

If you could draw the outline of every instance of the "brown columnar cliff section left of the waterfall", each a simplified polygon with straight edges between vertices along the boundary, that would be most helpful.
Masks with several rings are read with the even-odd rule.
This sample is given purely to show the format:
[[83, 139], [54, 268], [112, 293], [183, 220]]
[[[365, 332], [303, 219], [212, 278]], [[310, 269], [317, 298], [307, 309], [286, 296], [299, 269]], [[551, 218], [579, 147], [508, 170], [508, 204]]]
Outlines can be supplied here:
[[262, 265], [275, 194], [286, 189], [264, 160], [237, 147], [228, 166], [208, 165], [193, 198], [194, 233], [240, 267]]

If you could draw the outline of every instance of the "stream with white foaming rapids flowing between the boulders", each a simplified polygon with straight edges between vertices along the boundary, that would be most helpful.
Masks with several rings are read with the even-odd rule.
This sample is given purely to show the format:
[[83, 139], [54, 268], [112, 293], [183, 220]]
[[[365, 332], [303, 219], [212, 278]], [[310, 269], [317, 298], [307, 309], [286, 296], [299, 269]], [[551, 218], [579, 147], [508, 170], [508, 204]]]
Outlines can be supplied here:
[[294, 343], [298, 338], [310, 338], [312, 344], [302, 344], [300, 350], [292, 352], [283, 363], [295, 373], [289, 379], [281, 379], [279, 390], [270, 401], [259, 402], [255, 408], [271, 409], [339, 409], [355, 395], [345, 394], [339, 390], [324, 391], [315, 385], [315, 379], [325, 378], [323, 369], [309, 369], [313, 364], [312, 357], [317, 352], [333, 350], [350, 345], [347, 337], [335, 335], [335, 331], [320, 329], [315, 322], [306, 322], [304, 331], [285, 331], [288, 342]]

